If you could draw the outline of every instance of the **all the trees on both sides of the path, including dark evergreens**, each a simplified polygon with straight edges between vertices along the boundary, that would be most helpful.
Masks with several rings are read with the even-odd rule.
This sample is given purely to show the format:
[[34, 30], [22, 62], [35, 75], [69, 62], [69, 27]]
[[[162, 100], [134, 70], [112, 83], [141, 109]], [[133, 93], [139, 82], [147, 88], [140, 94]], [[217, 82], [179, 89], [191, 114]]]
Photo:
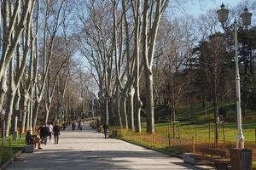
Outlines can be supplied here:
[[[24, 132], [86, 114], [137, 132], [145, 121], [154, 133], [154, 105], [166, 105], [175, 121], [179, 106], [194, 100], [203, 107], [212, 101], [217, 124], [219, 103], [235, 99], [233, 38], [230, 31], [218, 32], [215, 10], [174, 18], [179, 4], [3, 1], [0, 107], [6, 134], [10, 127], [17, 132], [19, 121]], [[253, 35], [252, 27], [239, 37], [244, 108], [255, 105]], [[217, 126], [215, 136], [218, 141]]]

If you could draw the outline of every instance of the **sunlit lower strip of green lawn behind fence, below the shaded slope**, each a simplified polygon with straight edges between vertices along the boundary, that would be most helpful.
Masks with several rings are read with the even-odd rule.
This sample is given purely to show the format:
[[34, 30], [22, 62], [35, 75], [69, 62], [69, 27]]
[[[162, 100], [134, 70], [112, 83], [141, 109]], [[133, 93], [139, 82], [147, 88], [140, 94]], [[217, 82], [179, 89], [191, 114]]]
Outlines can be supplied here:
[[[168, 132], [168, 127], [172, 124], [165, 123], [156, 123], [155, 132], [166, 135]], [[223, 127], [224, 126], [224, 127]], [[253, 123], [243, 123], [243, 133], [245, 140], [249, 142], [255, 141], [255, 129], [256, 122]], [[143, 125], [143, 131], [146, 130], [145, 125]], [[236, 140], [236, 122], [224, 122], [218, 123], [218, 138], [219, 141], [225, 139], [226, 142], [232, 142]], [[209, 139], [209, 123], [208, 122], [177, 122], [175, 123], [175, 136], [183, 139], [191, 139], [192, 136], [195, 136], [197, 139], [208, 140]], [[213, 141], [214, 138], [214, 123], [210, 122], [210, 139]]]

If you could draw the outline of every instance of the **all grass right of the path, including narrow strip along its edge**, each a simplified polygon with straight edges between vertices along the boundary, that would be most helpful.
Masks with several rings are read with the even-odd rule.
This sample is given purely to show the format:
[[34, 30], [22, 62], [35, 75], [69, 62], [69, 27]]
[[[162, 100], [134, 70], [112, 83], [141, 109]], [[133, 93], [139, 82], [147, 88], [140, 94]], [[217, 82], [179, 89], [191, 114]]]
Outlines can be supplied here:
[[[237, 122], [236, 122], [236, 103], [221, 104], [221, 109], [226, 111], [226, 118], [224, 122], [218, 123], [218, 141], [236, 143], [237, 135]], [[145, 116], [143, 113], [142, 116]], [[166, 105], [157, 105], [154, 107], [155, 116], [155, 133], [166, 137], [168, 131], [172, 136], [172, 123], [169, 122], [169, 113]], [[214, 116], [213, 107], [210, 102], [207, 103], [207, 108], [202, 108], [201, 103], [195, 103], [193, 105], [180, 105], [176, 113], [175, 123], [175, 136], [176, 138], [189, 139], [192, 136], [196, 140], [208, 142], [209, 133], [211, 142], [214, 141]], [[210, 126], [209, 126], [210, 125]], [[245, 136], [245, 144], [252, 144], [256, 142], [256, 111], [246, 110], [246, 116], [242, 117], [242, 128]], [[119, 127], [110, 127], [110, 130], [118, 130]], [[210, 131], [209, 131], [210, 130]], [[127, 135], [128, 133], [128, 135]], [[152, 142], [139, 138], [134, 138], [127, 132], [122, 135], [122, 139], [132, 141], [137, 144], [143, 144], [145, 146], [154, 147], [160, 150], [166, 150], [177, 154], [182, 154], [183, 150], [175, 145], [169, 147], [166, 142], [156, 143], [154, 146]], [[146, 123], [142, 124], [142, 133], [146, 133]], [[139, 133], [133, 133], [132, 135], [139, 135]], [[253, 161], [253, 169], [256, 170], [256, 161]]]

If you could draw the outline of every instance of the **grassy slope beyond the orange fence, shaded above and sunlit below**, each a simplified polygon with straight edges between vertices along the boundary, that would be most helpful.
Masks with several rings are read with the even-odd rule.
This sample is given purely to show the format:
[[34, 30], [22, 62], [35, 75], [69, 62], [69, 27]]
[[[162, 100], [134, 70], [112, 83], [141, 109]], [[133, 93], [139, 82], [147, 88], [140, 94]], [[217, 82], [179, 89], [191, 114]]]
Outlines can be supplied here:
[[[162, 108], [162, 109], [161, 109]], [[224, 119], [223, 123], [218, 123], [218, 134], [220, 141], [225, 138], [226, 141], [234, 141], [236, 139], [237, 133], [237, 123], [236, 123], [236, 104], [223, 104], [221, 108], [225, 108], [227, 111], [227, 118]], [[162, 117], [166, 117], [164, 112], [166, 111], [166, 106], [157, 106], [155, 109], [155, 114]], [[206, 120], [207, 113], [207, 120]], [[210, 136], [213, 139], [214, 135], [214, 123], [213, 123], [213, 108], [210, 104], [207, 104], [207, 111], [203, 109], [201, 104], [193, 104], [190, 107], [188, 105], [181, 105], [180, 109], [177, 111], [177, 121], [176, 123], [176, 136], [181, 138], [191, 139], [191, 136], [197, 136], [198, 139], [208, 139], [208, 128], [210, 122]], [[166, 128], [169, 126], [169, 122], [160, 122], [155, 124], [156, 133], [166, 133]], [[224, 126], [224, 133], [223, 133]], [[145, 126], [143, 126], [143, 130]], [[242, 117], [242, 127], [243, 133], [245, 135], [246, 141], [255, 141], [255, 129], [256, 129], [256, 111], [246, 110], [246, 116]]]

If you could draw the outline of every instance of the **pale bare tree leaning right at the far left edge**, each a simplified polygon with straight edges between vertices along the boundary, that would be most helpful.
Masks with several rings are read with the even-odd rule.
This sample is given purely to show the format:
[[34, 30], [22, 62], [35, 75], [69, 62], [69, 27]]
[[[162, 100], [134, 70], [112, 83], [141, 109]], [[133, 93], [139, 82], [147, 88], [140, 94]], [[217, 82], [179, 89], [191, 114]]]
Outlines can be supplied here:
[[[9, 62], [13, 59], [17, 44], [20, 42], [20, 35], [26, 27], [26, 19], [29, 14], [32, 14], [32, 0], [26, 1], [24, 4], [21, 0], [11, 2], [3, 1], [3, 47], [2, 57], [0, 60], [0, 110], [3, 108], [4, 95], [7, 92], [6, 89], [6, 71], [9, 66]], [[20, 16], [20, 17], [19, 17]]]

